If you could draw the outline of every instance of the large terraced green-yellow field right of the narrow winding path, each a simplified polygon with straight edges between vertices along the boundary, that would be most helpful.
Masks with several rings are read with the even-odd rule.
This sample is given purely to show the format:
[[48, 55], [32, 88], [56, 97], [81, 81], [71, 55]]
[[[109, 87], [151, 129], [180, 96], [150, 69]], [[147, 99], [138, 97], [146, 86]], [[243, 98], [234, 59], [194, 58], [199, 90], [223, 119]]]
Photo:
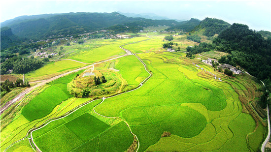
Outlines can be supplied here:
[[[256, 123], [242, 113], [238, 94], [229, 83], [199, 77], [201, 70], [192, 63], [164, 63], [172, 55], [139, 57], [152, 78], [140, 89], [106, 99], [97, 107], [98, 113], [120, 116], [131, 125], [140, 141], [139, 151], [257, 151], [263, 135], [249, 136], [247, 144], [246, 136]], [[257, 130], [264, 132], [263, 127]], [[161, 138], [164, 131], [172, 135]]]

